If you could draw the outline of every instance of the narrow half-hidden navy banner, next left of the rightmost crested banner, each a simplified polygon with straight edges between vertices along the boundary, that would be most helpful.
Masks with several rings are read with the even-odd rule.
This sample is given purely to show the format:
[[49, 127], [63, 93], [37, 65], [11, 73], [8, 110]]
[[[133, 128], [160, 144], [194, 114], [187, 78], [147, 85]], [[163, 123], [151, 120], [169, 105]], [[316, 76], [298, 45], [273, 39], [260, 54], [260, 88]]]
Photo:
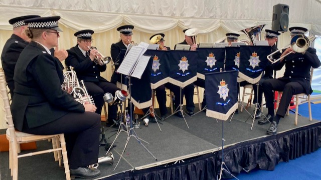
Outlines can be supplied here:
[[226, 47], [224, 70], [239, 70], [240, 47]]

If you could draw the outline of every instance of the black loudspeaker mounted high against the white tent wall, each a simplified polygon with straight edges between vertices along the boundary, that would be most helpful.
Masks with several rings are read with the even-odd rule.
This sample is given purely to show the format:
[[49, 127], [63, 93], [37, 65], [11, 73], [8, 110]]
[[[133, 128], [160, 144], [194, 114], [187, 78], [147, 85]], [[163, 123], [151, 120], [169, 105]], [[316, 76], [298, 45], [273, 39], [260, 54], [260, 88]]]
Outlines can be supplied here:
[[289, 6], [286, 4], [273, 5], [272, 30], [287, 31], [289, 24]]

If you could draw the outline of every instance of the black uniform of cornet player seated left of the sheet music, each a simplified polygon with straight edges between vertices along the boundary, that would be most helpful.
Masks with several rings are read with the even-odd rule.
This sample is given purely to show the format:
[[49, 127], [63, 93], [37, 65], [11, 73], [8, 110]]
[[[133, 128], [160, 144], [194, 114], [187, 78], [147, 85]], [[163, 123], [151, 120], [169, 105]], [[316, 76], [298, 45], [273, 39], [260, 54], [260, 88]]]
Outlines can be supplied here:
[[[91, 61], [89, 55], [85, 56], [76, 45], [67, 50], [68, 57], [65, 60], [66, 66], [74, 67], [79, 80], [84, 80], [84, 84], [87, 91], [92, 95], [95, 105], [97, 107], [96, 113], [100, 114], [102, 106], [104, 104], [103, 95], [107, 92], [115, 94], [119, 88], [115, 84], [107, 81], [105, 78], [100, 76], [100, 72], [106, 70], [106, 65], [95, 64]], [[89, 54], [90, 52], [88, 52]], [[117, 117], [117, 106], [108, 106], [108, 119], [112, 120]]]

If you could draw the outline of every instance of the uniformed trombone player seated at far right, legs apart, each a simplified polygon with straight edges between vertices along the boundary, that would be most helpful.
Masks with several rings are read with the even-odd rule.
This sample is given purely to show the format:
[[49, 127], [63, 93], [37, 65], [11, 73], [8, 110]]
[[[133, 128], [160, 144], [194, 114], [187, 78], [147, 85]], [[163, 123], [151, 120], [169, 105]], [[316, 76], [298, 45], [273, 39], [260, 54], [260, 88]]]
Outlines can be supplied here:
[[[304, 27], [290, 27], [289, 30], [291, 32], [291, 37], [297, 34], [304, 35], [307, 31]], [[317, 68], [320, 66], [320, 60], [318, 59], [314, 48], [309, 47], [302, 53], [299, 53], [289, 47], [284, 50], [281, 56], [288, 52], [291, 53], [281, 58], [275, 64], [275, 69], [281, 69], [285, 65], [283, 77], [267, 79], [262, 83], [268, 115], [271, 116], [269, 119], [272, 119], [272, 121], [270, 121], [271, 125], [267, 129], [268, 134], [275, 134], [277, 132], [279, 120], [281, 117], [284, 117], [294, 94], [312, 93], [309, 73], [310, 68]], [[283, 91], [275, 116], [273, 109], [273, 90]]]

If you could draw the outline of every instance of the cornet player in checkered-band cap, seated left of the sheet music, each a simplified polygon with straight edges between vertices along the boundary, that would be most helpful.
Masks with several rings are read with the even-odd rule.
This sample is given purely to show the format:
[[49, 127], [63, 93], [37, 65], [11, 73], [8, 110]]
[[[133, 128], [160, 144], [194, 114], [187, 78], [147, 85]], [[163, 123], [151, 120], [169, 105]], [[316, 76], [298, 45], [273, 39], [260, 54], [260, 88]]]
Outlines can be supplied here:
[[[91, 49], [93, 33], [93, 30], [86, 29], [77, 31], [74, 34], [77, 37], [77, 44], [67, 50], [68, 57], [65, 62], [67, 67], [74, 67], [79, 79], [84, 80], [88, 93], [92, 95], [97, 106], [96, 113], [100, 114], [104, 104], [103, 95], [107, 92], [114, 95], [116, 90], [120, 89], [117, 88], [115, 84], [100, 76], [100, 72], [106, 70], [106, 64], [99, 64], [94, 61], [97, 57], [102, 57], [97, 49]], [[113, 124], [116, 117], [117, 106], [109, 105], [108, 123]]]

